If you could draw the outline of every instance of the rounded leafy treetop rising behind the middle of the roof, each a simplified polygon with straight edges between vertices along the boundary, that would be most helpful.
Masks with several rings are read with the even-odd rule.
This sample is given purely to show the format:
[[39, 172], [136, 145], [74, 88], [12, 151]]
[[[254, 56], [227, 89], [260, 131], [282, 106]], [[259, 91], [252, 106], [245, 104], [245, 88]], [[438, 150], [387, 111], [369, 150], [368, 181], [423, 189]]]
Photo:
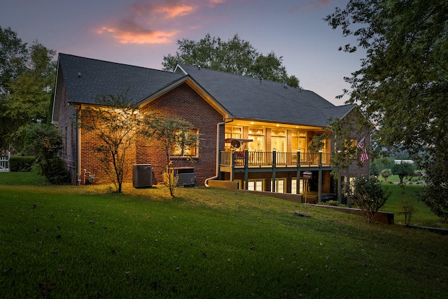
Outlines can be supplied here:
[[239, 76], [286, 82], [290, 87], [300, 88], [298, 78], [286, 73], [282, 65], [283, 57], [277, 57], [274, 52], [266, 56], [258, 53], [251, 43], [240, 39], [238, 34], [228, 41], [206, 34], [200, 41], [182, 39], [177, 44], [179, 48], [174, 56], [169, 54], [163, 57], [162, 66], [167, 71], [174, 71], [178, 63], [183, 63]]

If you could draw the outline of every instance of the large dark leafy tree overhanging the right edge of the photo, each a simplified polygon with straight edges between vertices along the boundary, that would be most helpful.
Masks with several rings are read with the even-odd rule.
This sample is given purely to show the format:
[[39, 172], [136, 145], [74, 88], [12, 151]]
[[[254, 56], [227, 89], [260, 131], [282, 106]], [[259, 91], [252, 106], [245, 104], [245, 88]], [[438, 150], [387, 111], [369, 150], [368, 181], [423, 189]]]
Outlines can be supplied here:
[[[448, 1], [350, 0], [325, 21], [356, 38], [339, 50], [365, 50], [360, 69], [345, 78], [351, 92], [344, 94], [378, 128], [378, 144], [407, 149], [427, 173], [447, 165]], [[447, 186], [448, 172], [428, 175], [421, 200], [448, 205], [448, 197], [430, 202], [440, 201], [433, 191]]]

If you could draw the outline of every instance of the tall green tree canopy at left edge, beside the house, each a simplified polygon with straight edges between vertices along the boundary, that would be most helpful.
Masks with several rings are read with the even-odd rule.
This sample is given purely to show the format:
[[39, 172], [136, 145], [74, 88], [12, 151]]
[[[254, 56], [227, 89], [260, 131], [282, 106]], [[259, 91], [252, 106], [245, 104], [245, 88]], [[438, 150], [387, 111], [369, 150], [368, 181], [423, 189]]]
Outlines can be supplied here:
[[38, 41], [27, 48], [10, 28], [0, 27], [0, 148], [23, 151], [27, 127], [50, 119], [54, 56]]

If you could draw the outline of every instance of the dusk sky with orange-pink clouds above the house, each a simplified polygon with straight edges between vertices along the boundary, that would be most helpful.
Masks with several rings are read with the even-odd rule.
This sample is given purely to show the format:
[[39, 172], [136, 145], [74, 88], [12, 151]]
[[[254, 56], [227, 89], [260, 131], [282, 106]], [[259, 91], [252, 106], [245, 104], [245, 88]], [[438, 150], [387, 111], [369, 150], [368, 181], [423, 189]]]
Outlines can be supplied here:
[[[0, 26], [22, 41], [57, 53], [162, 69], [178, 39], [205, 34], [227, 41], [238, 34], [258, 52], [283, 56], [289, 75], [333, 104], [349, 88], [344, 76], [360, 54], [338, 51], [353, 43], [323, 20], [348, 0], [1, 0]], [[56, 57], [55, 57], [56, 58]]]

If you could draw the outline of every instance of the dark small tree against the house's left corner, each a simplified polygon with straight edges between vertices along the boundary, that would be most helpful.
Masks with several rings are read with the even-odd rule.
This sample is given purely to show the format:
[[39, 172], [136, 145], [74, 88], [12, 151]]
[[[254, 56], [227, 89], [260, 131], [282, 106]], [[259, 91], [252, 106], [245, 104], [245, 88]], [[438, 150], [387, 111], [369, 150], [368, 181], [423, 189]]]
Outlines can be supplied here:
[[52, 184], [67, 183], [70, 179], [66, 165], [58, 155], [63, 146], [62, 137], [54, 125], [30, 125], [25, 134], [26, 150], [36, 155], [42, 174]]

